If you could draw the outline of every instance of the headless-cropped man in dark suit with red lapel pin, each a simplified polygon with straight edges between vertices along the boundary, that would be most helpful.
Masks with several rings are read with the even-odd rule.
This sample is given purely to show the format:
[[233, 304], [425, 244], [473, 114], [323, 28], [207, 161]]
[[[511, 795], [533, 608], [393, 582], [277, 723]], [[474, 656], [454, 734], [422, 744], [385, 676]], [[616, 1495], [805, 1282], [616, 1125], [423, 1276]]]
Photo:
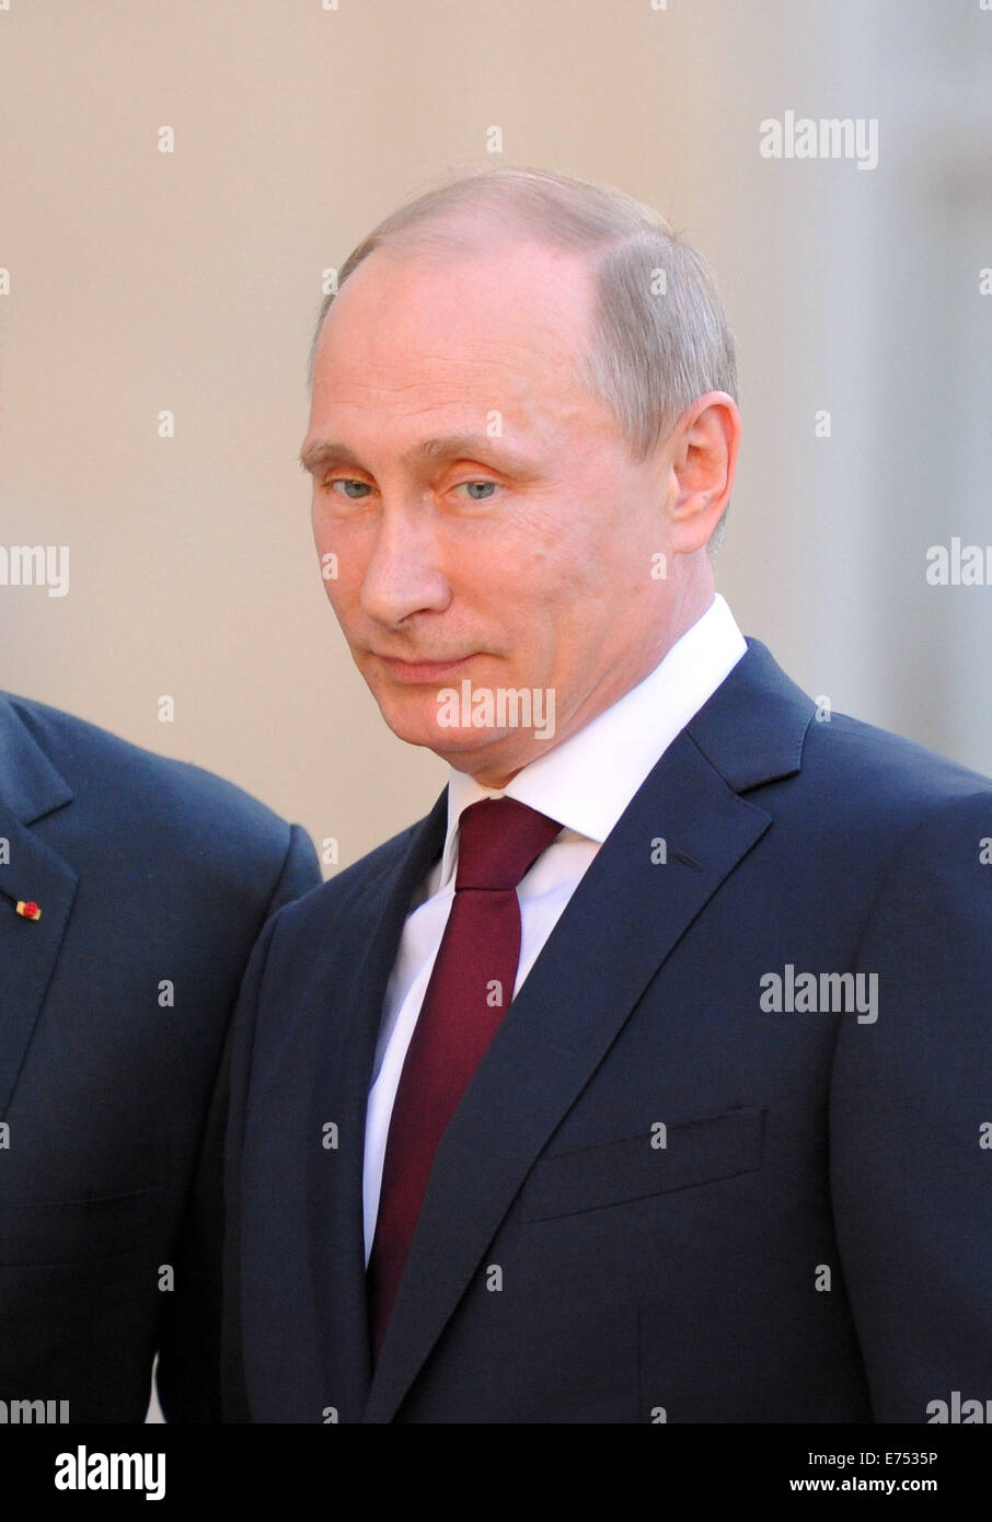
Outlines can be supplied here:
[[[141, 1422], [173, 1313], [176, 1345], [205, 1315], [178, 1257], [225, 1029], [266, 916], [318, 883], [230, 784], [0, 696], [6, 1420]], [[216, 1390], [204, 1356], [170, 1376], [176, 1417]]]

